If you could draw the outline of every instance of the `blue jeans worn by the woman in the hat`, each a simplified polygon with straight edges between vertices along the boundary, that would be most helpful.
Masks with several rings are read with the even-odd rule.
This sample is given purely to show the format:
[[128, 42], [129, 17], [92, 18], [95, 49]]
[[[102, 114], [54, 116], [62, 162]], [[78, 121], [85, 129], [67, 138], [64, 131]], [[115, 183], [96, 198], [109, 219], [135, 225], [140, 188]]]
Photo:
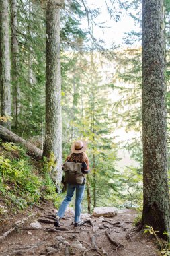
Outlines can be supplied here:
[[60, 205], [60, 208], [58, 210], [57, 216], [62, 218], [65, 214], [65, 210], [67, 208], [67, 205], [69, 205], [73, 195], [74, 191], [76, 189], [75, 194], [75, 223], [80, 221], [80, 215], [81, 215], [81, 201], [83, 199], [84, 191], [85, 191], [85, 185], [79, 185], [79, 184], [67, 184], [67, 195], [65, 199], [62, 201], [62, 204]]

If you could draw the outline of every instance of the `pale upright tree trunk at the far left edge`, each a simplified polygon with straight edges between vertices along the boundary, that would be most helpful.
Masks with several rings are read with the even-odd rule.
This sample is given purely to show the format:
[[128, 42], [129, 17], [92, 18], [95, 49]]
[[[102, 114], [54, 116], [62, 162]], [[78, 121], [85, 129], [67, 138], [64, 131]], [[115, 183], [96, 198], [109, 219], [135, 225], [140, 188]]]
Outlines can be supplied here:
[[[9, 46], [9, 2], [0, 1], [0, 86], [1, 86], [1, 117], [11, 116], [11, 84], [10, 84], [10, 46]], [[4, 127], [11, 128], [7, 123]]]

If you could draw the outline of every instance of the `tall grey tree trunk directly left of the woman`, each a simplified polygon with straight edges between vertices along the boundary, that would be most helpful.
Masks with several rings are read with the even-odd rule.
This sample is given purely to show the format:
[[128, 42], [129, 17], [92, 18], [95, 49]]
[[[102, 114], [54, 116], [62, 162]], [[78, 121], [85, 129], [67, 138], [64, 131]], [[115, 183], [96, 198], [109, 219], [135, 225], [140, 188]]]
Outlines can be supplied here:
[[[56, 185], [62, 179], [62, 120], [60, 81], [60, 7], [64, 1], [49, 0], [46, 7], [46, 137], [44, 156], [54, 154]], [[54, 172], [55, 171], [55, 172]]]

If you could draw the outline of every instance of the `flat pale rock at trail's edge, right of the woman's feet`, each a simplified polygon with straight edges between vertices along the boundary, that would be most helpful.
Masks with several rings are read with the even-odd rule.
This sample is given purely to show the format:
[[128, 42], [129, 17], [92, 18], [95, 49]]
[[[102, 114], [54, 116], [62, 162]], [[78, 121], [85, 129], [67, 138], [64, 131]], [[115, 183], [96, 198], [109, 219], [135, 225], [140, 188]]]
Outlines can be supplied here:
[[115, 207], [95, 207], [93, 216], [95, 217], [114, 217], [117, 215], [118, 209]]

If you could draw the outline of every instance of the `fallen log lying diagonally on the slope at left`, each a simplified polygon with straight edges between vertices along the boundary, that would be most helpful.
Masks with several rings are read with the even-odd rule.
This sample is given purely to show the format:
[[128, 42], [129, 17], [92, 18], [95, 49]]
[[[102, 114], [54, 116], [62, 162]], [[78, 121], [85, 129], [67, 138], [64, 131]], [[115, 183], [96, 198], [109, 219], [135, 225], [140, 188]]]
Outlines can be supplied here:
[[42, 150], [34, 146], [32, 143], [29, 143], [28, 141], [22, 139], [22, 137], [19, 137], [15, 133], [9, 131], [2, 125], [0, 125], [0, 138], [3, 139], [3, 141], [21, 143], [26, 147], [27, 153], [30, 156], [33, 156], [34, 158], [38, 159], [42, 158]]

